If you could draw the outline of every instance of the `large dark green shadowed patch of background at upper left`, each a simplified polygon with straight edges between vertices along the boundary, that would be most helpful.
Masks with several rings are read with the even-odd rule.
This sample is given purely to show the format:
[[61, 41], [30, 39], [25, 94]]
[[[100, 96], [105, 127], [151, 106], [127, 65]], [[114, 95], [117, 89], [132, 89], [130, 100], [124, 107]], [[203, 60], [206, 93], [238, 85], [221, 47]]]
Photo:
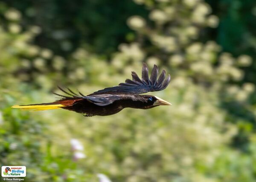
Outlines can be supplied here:
[[132, 0], [2, 0], [22, 12], [22, 23], [40, 26], [35, 44], [68, 56], [86, 46], [97, 54], [110, 55], [131, 31], [126, 20], [147, 17], [147, 10]]

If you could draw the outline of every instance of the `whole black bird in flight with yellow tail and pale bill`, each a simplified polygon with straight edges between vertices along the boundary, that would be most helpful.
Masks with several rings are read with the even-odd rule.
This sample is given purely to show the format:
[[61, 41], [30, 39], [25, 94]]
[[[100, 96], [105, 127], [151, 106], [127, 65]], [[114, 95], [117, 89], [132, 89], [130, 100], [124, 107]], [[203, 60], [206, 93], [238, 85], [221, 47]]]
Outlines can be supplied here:
[[146, 92], [154, 92], [165, 89], [170, 82], [170, 75], [166, 77], [166, 71], [163, 69], [159, 78], [158, 68], [154, 65], [150, 78], [148, 77], [148, 66], [144, 63], [142, 68], [142, 79], [135, 72], [131, 72], [132, 80], [126, 79], [125, 83], [118, 86], [105, 88], [93, 92], [90, 95], [83, 95], [81, 92], [75, 93], [70, 89], [63, 90], [67, 94], [55, 95], [61, 96], [61, 100], [31, 105], [14, 105], [12, 108], [20, 108], [21, 110], [49, 110], [49, 109], [66, 109], [84, 116], [108, 116], [118, 113], [125, 107], [136, 109], [150, 109], [159, 105], [171, 105], [169, 102], [153, 95], [139, 95]]

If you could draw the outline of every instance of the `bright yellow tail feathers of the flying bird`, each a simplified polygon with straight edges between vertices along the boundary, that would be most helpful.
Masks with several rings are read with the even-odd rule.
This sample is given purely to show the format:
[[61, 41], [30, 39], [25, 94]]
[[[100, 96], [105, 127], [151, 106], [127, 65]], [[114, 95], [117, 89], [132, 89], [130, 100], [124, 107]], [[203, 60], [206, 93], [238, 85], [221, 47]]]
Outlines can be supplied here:
[[18, 106], [14, 105], [12, 108], [19, 108], [21, 110], [30, 110], [30, 111], [39, 111], [39, 110], [50, 110], [50, 109], [61, 109], [65, 107], [62, 104], [52, 104], [52, 105], [27, 105], [27, 106]]

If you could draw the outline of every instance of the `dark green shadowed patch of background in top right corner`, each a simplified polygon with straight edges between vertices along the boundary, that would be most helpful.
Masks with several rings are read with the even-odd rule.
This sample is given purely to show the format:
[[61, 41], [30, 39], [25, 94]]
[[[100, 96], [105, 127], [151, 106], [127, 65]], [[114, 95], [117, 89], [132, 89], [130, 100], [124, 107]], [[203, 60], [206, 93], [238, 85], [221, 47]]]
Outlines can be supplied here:
[[[219, 17], [217, 29], [211, 29], [210, 39], [221, 45], [223, 52], [233, 56], [256, 57], [256, 1], [255, 0], [206, 0], [212, 7], [212, 14]], [[209, 38], [208, 38], [209, 39]], [[256, 62], [244, 68], [244, 81], [254, 82]]]

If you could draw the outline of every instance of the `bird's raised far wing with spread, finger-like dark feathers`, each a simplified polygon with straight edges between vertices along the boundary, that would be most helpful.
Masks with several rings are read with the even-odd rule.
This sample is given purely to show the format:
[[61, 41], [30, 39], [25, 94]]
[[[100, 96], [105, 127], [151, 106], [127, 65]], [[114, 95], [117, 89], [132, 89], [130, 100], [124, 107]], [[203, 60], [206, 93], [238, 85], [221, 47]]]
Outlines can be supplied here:
[[105, 88], [103, 90], [99, 90], [93, 92], [90, 95], [97, 94], [141, 94], [146, 92], [155, 92], [165, 89], [170, 83], [171, 76], [168, 75], [166, 77], [166, 71], [163, 69], [162, 73], [157, 79], [158, 75], [158, 67], [154, 65], [152, 69], [151, 76], [148, 76], [148, 66], [143, 63], [142, 67], [142, 79], [136, 74], [136, 72], [131, 72], [132, 80], [126, 79], [125, 83], [121, 83], [118, 86]]

